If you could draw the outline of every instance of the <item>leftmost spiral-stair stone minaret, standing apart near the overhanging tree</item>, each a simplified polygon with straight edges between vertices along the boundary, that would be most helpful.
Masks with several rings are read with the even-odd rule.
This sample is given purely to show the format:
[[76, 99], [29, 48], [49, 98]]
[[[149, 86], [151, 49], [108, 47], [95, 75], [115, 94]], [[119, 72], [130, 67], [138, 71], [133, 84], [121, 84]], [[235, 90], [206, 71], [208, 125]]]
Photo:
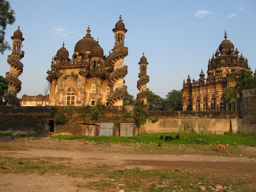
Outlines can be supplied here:
[[6, 73], [6, 80], [9, 82], [8, 91], [4, 93], [4, 99], [7, 100], [7, 106], [20, 105], [20, 99], [17, 98], [17, 93], [21, 91], [21, 81], [18, 77], [23, 71], [23, 64], [20, 60], [24, 57], [24, 51], [21, 51], [22, 33], [20, 26], [13, 33], [12, 39], [12, 54], [8, 55], [7, 62], [10, 65], [10, 72]]

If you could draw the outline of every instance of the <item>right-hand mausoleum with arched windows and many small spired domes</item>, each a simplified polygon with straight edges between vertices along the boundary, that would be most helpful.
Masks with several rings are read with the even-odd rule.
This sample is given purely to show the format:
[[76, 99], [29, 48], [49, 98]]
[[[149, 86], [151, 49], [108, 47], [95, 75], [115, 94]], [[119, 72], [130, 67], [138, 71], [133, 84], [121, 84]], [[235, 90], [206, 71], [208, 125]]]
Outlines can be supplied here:
[[[241, 69], [248, 68], [247, 58], [240, 56], [238, 49], [227, 39], [225, 31], [224, 40], [216, 50], [215, 55], [208, 62], [207, 78], [201, 70], [199, 80], [191, 82], [188, 75], [187, 81], [183, 81], [183, 111], [227, 111], [223, 90], [227, 86], [235, 86]], [[220, 55], [219, 55], [220, 54]]]

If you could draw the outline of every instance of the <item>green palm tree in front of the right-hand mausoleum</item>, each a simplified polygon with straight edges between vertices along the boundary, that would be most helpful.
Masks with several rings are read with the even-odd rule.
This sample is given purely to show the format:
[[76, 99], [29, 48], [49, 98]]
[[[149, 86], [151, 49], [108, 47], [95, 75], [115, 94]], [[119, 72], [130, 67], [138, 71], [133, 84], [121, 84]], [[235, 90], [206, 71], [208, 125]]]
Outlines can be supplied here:
[[228, 86], [224, 89], [227, 94], [226, 101], [231, 104], [237, 96], [242, 96], [242, 90], [256, 88], [256, 76], [253, 76], [245, 69], [240, 71], [239, 79], [235, 86]]

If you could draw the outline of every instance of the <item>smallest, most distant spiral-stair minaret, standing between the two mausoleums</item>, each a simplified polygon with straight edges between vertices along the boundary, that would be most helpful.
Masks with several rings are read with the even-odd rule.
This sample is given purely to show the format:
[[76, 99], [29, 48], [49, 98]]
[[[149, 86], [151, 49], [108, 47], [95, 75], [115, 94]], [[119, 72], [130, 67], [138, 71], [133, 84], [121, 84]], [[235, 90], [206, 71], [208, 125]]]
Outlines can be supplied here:
[[[147, 65], [149, 63], [147, 62], [147, 58], [143, 56], [140, 58], [140, 73], [138, 77], [140, 78], [137, 81], [137, 89], [140, 91], [137, 94], [137, 101], [142, 101], [144, 100], [144, 105], [148, 104], [147, 102], [147, 93], [149, 92], [149, 88], [147, 88], [147, 83], [149, 82], [149, 75], [147, 75]], [[148, 108], [148, 107], [147, 107]]]

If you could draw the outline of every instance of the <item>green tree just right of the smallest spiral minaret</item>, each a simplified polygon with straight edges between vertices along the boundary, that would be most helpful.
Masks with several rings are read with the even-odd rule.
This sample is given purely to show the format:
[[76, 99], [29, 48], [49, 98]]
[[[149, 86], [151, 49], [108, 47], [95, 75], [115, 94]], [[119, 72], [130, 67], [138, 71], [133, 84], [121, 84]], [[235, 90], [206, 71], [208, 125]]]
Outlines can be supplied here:
[[159, 95], [156, 95], [152, 91], [147, 93], [147, 101], [149, 102], [149, 111], [163, 111], [164, 99]]

